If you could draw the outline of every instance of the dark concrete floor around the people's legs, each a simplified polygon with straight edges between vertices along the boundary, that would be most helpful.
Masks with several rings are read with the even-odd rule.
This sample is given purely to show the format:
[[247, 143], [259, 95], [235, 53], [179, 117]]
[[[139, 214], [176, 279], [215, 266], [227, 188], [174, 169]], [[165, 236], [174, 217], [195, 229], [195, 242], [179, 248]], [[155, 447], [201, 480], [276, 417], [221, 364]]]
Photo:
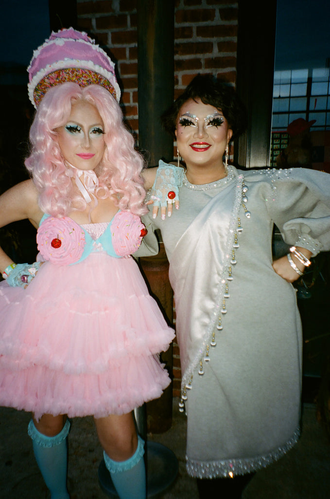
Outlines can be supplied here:
[[[30, 416], [0, 408], [0, 499], [49, 499], [26, 433]], [[149, 435], [171, 449], [179, 462], [172, 487], [160, 499], [198, 499], [195, 480], [185, 471], [186, 418], [174, 401], [173, 424], [164, 434]], [[73, 420], [69, 437], [69, 490], [72, 499], [107, 499], [98, 482], [102, 450], [92, 418]], [[152, 468], [152, 467], [151, 467]], [[329, 499], [330, 440], [316, 419], [314, 404], [305, 404], [302, 437], [280, 461], [258, 472], [244, 499]]]

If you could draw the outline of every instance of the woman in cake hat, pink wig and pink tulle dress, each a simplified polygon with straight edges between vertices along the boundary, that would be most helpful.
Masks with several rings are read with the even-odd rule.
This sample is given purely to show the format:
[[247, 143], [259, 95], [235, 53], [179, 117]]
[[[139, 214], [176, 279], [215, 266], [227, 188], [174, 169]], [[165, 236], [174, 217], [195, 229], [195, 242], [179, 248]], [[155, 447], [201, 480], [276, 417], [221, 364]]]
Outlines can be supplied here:
[[158, 354], [173, 338], [130, 256], [146, 233], [143, 160], [113, 63], [86, 33], [52, 33], [28, 71], [31, 179], [0, 197], [0, 227], [29, 219], [39, 253], [15, 264], [0, 250], [0, 404], [33, 413], [28, 433], [52, 499], [70, 497], [67, 418], [86, 415], [118, 496], [143, 499], [131, 411], [169, 384]]

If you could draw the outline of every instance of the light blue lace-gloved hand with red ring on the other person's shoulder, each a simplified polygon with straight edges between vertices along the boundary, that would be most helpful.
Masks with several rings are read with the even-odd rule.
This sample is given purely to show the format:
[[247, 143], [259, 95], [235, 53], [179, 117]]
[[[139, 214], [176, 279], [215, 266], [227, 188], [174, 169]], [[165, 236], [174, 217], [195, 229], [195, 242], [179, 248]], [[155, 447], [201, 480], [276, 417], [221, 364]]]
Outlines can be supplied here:
[[154, 185], [151, 188], [150, 198], [153, 200], [152, 217], [156, 218], [158, 209], [161, 209], [161, 217], [165, 219], [167, 214], [172, 215], [172, 204], [179, 209], [179, 187], [182, 185], [183, 169], [164, 161], [159, 162]]

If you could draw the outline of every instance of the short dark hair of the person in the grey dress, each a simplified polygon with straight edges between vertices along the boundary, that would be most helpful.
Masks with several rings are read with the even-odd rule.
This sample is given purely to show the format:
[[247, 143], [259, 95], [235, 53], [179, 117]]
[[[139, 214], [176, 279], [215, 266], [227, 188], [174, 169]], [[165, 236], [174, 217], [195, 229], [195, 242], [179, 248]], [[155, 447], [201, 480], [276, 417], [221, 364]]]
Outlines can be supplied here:
[[232, 138], [244, 131], [246, 111], [233, 86], [210, 74], [198, 74], [161, 117], [163, 128], [172, 135], [175, 136], [180, 109], [189, 99], [201, 99], [204, 104], [221, 110], [232, 130]]

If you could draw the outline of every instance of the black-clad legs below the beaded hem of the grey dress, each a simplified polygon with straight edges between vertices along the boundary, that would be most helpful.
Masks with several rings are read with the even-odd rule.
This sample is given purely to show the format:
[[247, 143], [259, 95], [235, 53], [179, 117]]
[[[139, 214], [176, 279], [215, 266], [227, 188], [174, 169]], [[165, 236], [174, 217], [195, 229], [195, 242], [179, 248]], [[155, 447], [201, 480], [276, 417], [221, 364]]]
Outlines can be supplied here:
[[197, 479], [200, 499], [240, 499], [254, 473], [234, 478]]

